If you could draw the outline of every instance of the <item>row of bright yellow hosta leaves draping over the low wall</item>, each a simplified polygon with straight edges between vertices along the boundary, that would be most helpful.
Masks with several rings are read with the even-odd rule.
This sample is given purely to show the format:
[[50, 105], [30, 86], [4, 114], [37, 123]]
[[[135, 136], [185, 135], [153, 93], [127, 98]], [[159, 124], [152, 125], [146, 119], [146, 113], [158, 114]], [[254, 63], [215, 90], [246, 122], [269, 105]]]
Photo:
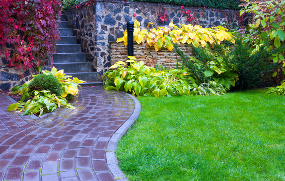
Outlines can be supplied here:
[[[152, 23], [149, 23], [149, 26], [151, 24]], [[177, 43], [192, 44], [195, 47], [198, 47], [199, 45], [204, 47], [207, 42], [210, 44], [220, 44], [224, 40], [235, 43], [233, 35], [228, 32], [228, 29], [222, 26], [202, 28], [199, 25], [192, 26], [191, 24], [183, 24], [182, 28], [179, 28], [173, 23], [170, 23], [169, 27], [152, 28], [150, 31], [140, 30], [140, 28], [138, 28], [139, 26], [140, 23], [135, 20], [133, 40], [138, 44], [146, 42], [146, 47], [154, 46], [155, 51], [160, 50], [162, 47], [172, 51], [174, 48], [173, 44]], [[126, 46], [127, 31], [124, 32], [123, 37], [117, 39], [117, 43], [122, 41]]]

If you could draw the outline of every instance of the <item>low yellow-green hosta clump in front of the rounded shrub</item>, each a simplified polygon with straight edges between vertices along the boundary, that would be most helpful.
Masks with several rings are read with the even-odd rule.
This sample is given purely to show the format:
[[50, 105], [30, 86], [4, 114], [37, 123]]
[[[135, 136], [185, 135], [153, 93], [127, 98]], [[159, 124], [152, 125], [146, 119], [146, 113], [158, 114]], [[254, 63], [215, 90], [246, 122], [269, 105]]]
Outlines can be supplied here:
[[28, 100], [26, 103], [19, 101], [18, 103], [11, 104], [7, 111], [18, 110], [18, 112], [24, 111], [23, 115], [37, 115], [41, 116], [45, 113], [53, 112], [56, 108], [66, 106], [67, 109], [75, 109], [67, 103], [65, 98], [55, 96], [50, 91], [33, 91], [33, 99]]

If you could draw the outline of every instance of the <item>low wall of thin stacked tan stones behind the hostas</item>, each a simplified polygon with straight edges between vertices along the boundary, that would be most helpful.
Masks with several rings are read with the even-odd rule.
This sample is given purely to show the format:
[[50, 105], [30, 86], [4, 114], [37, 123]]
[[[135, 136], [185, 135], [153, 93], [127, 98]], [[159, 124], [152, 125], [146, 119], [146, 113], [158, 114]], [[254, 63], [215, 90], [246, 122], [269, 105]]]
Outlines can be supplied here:
[[[127, 60], [127, 47], [125, 47], [123, 43], [116, 42], [112, 42], [110, 45], [111, 64], [113, 65], [117, 61], [125, 62]], [[193, 49], [188, 44], [179, 44], [179, 48], [185, 55], [194, 56]], [[146, 48], [144, 45], [136, 43], [133, 44], [133, 49], [133, 55], [136, 57], [136, 61], [143, 61], [146, 65], [153, 67], [155, 64], [165, 67], [166, 64], [167, 69], [176, 68], [177, 55], [174, 50], [170, 52], [167, 49], [160, 49], [158, 52], [155, 52], [154, 47]]]

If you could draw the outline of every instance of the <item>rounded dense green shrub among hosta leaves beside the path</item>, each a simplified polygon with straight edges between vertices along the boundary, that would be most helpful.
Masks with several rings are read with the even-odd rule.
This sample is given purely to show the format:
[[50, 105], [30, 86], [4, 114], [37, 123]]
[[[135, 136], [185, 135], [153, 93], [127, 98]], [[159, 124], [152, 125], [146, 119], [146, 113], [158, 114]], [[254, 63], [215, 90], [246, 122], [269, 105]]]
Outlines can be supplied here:
[[53, 75], [39, 74], [29, 84], [29, 91], [50, 91], [50, 94], [60, 96], [62, 92], [62, 83]]

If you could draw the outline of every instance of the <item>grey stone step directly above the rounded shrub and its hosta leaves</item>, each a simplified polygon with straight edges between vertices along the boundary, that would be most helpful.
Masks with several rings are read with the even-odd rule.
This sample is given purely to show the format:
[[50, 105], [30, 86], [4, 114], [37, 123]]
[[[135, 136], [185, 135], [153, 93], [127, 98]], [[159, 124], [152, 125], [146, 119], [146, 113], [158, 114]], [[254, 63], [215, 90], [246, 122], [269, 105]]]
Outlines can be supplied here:
[[63, 69], [64, 72], [81, 72], [90, 71], [92, 69], [91, 62], [65, 62], [65, 63], [53, 63], [53, 65], [58, 69]]

